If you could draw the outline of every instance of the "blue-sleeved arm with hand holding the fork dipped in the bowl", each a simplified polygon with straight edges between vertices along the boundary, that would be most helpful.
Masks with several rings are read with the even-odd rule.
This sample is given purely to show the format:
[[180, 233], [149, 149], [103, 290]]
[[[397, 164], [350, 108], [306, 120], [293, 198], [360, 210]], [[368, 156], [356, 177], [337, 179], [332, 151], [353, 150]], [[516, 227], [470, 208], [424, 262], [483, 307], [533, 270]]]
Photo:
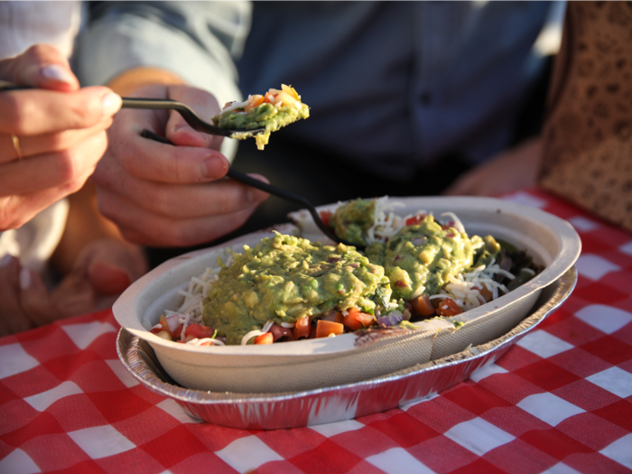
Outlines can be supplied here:
[[[249, 4], [153, 1], [116, 8], [102, 2], [102, 16], [82, 38], [79, 71], [88, 83], [107, 80], [124, 95], [180, 100], [210, 118], [218, 100], [239, 97], [231, 58], [244, 27], [239, 5]], [[231, 14], [237, 23], [230, 23]], [[143, 128], [178, 146], [142, 138]], [[222, 179], [229, 163], [218, 151], [221, 139], [195, 132], [176, 112], [122, 110], [108, 136], [94, 174], [98, 206], [135, 243], [208, 242], [241, 226], [267, 197]]]

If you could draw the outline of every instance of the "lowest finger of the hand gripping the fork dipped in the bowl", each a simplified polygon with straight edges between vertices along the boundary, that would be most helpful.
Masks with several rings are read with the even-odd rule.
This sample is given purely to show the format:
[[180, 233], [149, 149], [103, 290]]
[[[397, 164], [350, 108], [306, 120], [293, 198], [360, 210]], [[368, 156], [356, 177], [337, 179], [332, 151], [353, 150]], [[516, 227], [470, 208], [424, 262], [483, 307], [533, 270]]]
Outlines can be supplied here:
[[[125, 209], [121, 211], [121, 209]], [[99, 211], [116, 222], [125, 239], [145, 246], [194, 246], [242, 226], [256, 206], [202, 218], [167, 218], [112, 195]]]

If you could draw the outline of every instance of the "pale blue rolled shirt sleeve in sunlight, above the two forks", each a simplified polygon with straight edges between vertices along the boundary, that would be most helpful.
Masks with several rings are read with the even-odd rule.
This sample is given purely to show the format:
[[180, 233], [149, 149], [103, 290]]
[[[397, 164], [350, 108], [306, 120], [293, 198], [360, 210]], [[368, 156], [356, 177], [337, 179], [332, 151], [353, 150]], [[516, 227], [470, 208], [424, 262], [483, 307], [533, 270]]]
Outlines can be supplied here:
[[250, 28], [249, 0], [97, 0], [74, 57], [82, 85], [137, 66], [170, 70], [219, 104], [241, 97], [234, 60]]

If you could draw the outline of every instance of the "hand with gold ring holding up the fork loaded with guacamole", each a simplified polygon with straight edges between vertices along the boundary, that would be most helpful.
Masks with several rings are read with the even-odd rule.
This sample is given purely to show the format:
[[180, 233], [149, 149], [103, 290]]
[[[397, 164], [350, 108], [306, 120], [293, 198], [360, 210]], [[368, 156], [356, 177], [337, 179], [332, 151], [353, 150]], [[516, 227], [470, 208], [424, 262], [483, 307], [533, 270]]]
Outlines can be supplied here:
[[0, 79], [37, 88], [0, 92], [1, 231], [79, 190], [107, 148], [121, 100], [108, 88], [79, 88], [50, 45], [0, 60]]

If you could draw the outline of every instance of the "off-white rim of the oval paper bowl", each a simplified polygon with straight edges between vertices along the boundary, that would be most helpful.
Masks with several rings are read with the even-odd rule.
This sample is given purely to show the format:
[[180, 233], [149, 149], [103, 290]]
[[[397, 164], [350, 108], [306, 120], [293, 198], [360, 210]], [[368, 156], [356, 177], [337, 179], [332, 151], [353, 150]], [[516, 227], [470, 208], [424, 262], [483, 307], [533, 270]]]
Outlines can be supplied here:
[[[571, 224], [562, 218], [553, 216], [542, 209], [525, 206], [509, 200], [499, 200], [496, 198], [479, 198], [479, 197], [396, 197], [390, 198], [392, 200], [402, 201], [408, 204], [414, 204], [416, 201], [423, 200], [423, 209], [432, 210], [433, 207], [445, 207], [451, 206], [451, 203], [458, 203], [460, 209], [454, 210], [454, 212], [460, 217], [463, 213], [471, 211], [494, 211], [498, 213], [512, 213], [520, 215], [524, 218], [531, 218], [544, 224], [546, 228], [549, 228], [558, 238], [559, 250], [558, 253], [553, 256], [550, 265], [547, 265], [544, 270], [534, 276], [533, 279], [527, 283], [521, 285], [510, 293], [504, 294], [498, 297], [493, 302], [488, 302], [484, 305], [466, 311], [463, 314], [469, 316], [470, 321], [474, 321], [491, 311], [497, 311], [498, 309], [506, 306], [510, 302], [517, 302], [530, 294], [541, 290], [545, 286], [556, 281], [562, 274], [564, 274], [575, 263], [581, 253], [581, 238], [577, 234]], [[319, 206], [317, 209], [330, 210], [339, 206], [338, 203], [327, 204]], [[454, 204], [456, 205], [456, 204]], [[422, 205], [419, 206], [420, 208]], [[301, 212], [301, 210], [297, 211]], [[292, 215], [293, 213], [291, 213]], [[467, 220], [467, 218], [462, 218]], [[218, 246], [210, 246], [208, 248], [194, 250], [192, 252], [185, 253], [181, 256], [176, 256], [170, 260], [167, 260], [161, 265], [156, 266], [144, 274], [141, 278], [132, 283], [124, 293], [119, 296], [112, 307], [116, 321], [125, 330], [130, 331], [135, 336], [147, 340], [152, 345], [163, 347], [163, 349], [177, 349], [190, 353], [198, 354], [210, 354], [210, 355], [222, 355], [222, 356], [314, 356], [320, 353], [332, 354], [351, 349], [359, 349], [355, 345], [355, 341], [358, 337], [356, 333], [343, 334], [336, 338], [328, 339], [309, 339], [299, 341], [289, 341], [283, 344], [269, 344], [269, 345], [247, 345], [247, 346], [193, 346], [191, 344], [181, 344], [179, 342], [172, 342], [170, 340], [162, 339], [146, 330], [141, 322], [142, 315], [137, 314], [136, 300], [137, 298], [164, 274], [168, 274], [177, 270], [182, 265], [191, 265], [192, 259], [199, 259], [208, 254], [224, 251], [228, 247], [236, 247], [243, 245], [253, 245], [256, 241], [263, 237], [269, 237], [274, 235], [273, 230], [281, 233], [293, 234], [298, 227], [293, 224], [281, 224], [273, 226], [271, 228], [265, 228], [245, 236], [231, 239]], [[467, 229], [466, 229], [467, 230]], [[492, 306], [493, 304], [493, 306]], [[433, 331], [436, 329], [432, 329]], [[420, 330], [412, 330], [411, 332], [422, 332]], [[427, 331], [427, 329], [426, 329]], [[314, 352], [314, 350], [316, 352]], [[324, 350], [324, 352], [323, 352]]]

